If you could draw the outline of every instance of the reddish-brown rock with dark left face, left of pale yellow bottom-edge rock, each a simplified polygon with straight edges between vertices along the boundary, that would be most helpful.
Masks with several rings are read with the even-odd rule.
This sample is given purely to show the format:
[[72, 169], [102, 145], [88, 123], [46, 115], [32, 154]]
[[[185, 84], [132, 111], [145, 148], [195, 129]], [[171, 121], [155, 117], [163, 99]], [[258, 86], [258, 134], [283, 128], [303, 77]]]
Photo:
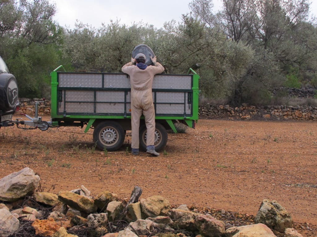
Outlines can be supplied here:
[[217, 237], [225, 233], [224, 222], [212, 216], [200, 215], [194, 221], [200, 234], [206, 237]]

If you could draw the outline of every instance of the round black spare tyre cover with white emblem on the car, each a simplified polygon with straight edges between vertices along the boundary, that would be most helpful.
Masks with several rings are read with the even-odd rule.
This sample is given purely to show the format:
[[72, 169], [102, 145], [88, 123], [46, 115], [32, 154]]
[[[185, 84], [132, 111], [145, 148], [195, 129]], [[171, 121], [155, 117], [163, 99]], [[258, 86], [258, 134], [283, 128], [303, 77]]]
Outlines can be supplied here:
[[18, 85], [12, 74], [0, 74], [0, 110], [16, 108], [18, 101]]

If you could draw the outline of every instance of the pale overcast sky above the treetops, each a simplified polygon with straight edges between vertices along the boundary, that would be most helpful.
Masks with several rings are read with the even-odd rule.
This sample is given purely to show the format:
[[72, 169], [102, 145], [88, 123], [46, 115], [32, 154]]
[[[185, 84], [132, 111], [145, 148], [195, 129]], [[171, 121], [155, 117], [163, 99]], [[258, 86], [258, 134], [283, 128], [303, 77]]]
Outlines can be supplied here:
[[[142, 21], [161, 28], [165, 21], [181, 21], [182, 14], [190, 12], [191, 0], [49, 0], [56, 3], [54, 19], [61, 25], [74, 28], [76, 20], [99, 28], [110, 20], [120, 20], [121, 24], [131, 26]], [[311, 0], [311, 13], [317, 15], [317, 0]], [[214, 12], [222, 6], [222, 0], [214, 0]]]

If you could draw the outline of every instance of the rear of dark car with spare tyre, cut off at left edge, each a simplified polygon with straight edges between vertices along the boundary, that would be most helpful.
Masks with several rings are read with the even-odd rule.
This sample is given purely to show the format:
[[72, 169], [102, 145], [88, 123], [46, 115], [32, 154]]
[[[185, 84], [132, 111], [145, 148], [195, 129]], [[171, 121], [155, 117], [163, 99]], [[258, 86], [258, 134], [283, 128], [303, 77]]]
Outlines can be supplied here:
[[12, 115], [20, 110], [15, 76], [0, 57], [0, 128], [14, 125]]

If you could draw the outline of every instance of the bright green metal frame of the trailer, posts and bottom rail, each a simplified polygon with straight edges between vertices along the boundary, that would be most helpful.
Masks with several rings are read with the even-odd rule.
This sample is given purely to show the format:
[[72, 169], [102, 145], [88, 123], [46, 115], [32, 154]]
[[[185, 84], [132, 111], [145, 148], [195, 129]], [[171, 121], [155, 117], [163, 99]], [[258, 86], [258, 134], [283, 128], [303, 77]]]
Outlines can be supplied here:
[[[57, 98], [57, 87], [58, 87], [58, 79], [57, 72], [60, 70], [66, 71], [64, 67], [61, 65], [57, 67], [54, 71], [51, 72], [51, 120], [53, 126], [58, 126], [58, 122], [62, 121], [62, 119], [74, 119], [74, 121], [88, 121], [87, 127], [85, 129], [85, 133], [89, 130], [89, 128], [93, 125], [96, 119], [131, 119], [130, 115], [59, 115], [57, 114], [57, 106], [58, 106], [58, 98]], [[156, 116], [156, 120], [165, 120], [166, 123], [171, 127], [171, 129], [177, 133], [177, 130], [173, 124], [173, 120], [184, 120], [184, 122], [192, 127], [192, 121], [198, 121], [198, 97], [199, 97], [199, 86], [198, 80], [199, 75], [192, 70], [191, 68], [188, 70], [187, 74], [193, 75], [193, 84], [192, 84], [192, 116], [184, 118], [183, 116]], [[142, 117], [141, 117], [142, 119]]]

